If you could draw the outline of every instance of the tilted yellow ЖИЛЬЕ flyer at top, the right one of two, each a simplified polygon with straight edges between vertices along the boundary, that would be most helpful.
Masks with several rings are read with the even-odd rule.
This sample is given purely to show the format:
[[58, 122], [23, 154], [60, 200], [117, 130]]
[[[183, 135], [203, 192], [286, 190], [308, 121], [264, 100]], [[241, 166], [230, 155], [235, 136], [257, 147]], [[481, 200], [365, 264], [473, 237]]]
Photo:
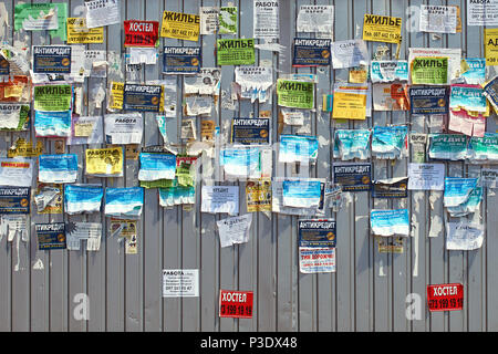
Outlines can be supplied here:
[[363, 20], [363, 40], [373, 42], [401, 43], [401, 18], [365, 13]]

